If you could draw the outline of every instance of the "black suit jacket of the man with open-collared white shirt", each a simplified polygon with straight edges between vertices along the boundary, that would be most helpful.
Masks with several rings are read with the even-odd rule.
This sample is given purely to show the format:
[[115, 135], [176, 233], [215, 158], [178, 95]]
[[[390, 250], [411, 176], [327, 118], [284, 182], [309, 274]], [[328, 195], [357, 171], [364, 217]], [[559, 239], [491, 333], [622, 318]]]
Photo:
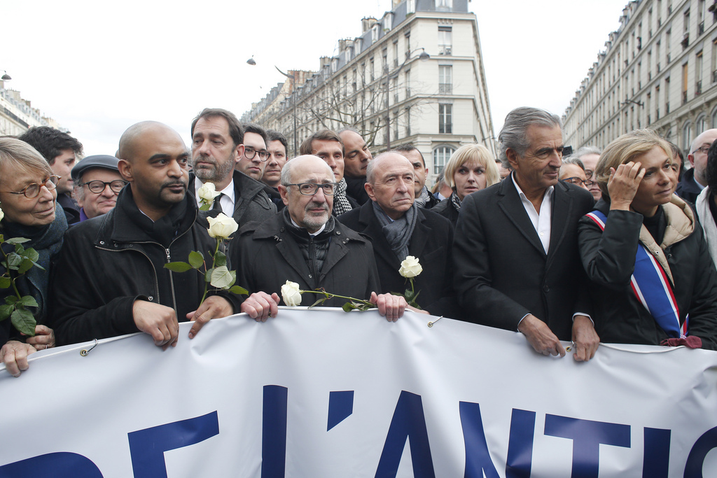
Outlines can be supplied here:
[[454, 285], [471, 322], [517, 330], [533, 314], [559, 339], [571, 340], [574, 313], [590, 313], [577, 225], [594, 199], [559, 181], [552, 201], [546, 254], [510, 178], [465, 197], [453, 247]]

